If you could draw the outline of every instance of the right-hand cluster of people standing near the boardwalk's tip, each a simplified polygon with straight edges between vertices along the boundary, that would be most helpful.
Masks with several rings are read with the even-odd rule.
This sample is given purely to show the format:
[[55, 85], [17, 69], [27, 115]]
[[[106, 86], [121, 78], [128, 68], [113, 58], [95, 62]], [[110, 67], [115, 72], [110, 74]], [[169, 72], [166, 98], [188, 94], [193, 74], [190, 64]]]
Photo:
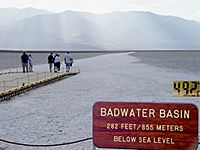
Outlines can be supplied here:
[[[74, 60], [69, 52], [65, 54], [64, 57], [64, 63], [66, 65], [66, 72], [70, 71], [70, 67], [74, 63]], [[48, 64], [49, 64], [49, 71], [53, 71], [53, 66], [54, 66], [54, 72], [59, 72], [60, 71], [60, 65], [61, 65], [61, 57], [59, 54], [55, 54], [53, 56], [53, 53], [50, 53], [48, 56]]]

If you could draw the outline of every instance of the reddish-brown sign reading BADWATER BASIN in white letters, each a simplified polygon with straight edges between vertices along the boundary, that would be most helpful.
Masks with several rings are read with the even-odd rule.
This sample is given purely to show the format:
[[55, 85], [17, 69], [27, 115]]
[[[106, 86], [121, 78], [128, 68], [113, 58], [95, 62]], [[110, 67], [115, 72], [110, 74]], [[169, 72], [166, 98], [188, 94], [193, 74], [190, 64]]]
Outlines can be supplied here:
[[198, 109], [193, 104], [97, 102], [93, 143], [100, 148], [196, 150]]

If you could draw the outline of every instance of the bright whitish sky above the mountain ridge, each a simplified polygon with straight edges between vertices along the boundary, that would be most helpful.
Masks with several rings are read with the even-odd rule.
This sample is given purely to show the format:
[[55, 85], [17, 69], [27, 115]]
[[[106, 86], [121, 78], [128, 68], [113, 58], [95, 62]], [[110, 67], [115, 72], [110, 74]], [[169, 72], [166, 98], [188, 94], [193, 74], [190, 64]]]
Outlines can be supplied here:
[[76, 10], [95, 13], [139, 10], [200, 20], [200, 0], [0, 0], [0, 7], [35, 7], [54, 12]]

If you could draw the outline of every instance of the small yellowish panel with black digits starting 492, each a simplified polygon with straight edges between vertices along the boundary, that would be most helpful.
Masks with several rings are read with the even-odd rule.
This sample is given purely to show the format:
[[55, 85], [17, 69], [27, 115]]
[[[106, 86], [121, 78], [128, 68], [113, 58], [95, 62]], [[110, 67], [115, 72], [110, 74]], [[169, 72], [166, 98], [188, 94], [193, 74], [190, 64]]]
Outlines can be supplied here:
[[200, 81], [174, 81], [173, 94], [175, 96], [199, 97]]

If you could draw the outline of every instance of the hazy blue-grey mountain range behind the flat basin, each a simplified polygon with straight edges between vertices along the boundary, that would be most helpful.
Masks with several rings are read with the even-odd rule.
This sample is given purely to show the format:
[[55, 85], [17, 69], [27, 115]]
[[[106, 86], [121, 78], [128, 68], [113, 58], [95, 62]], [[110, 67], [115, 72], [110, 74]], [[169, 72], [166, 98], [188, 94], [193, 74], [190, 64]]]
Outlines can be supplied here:
[[[25, 13], [30, 10], [34, 13], [26, 13], [24, 18], [18, 17], [20, 19], [17, 20], [12, 20], [11, 17], [12, 21], [8, 25], [0, 24], [1, 48], [72, 50], [200, 48], [200, 24], [178, 17], [139, 11], [105, 14], [75, 11], [50, 13], [33, 8], [21, 11]], [[0, 19], [2, 16], [1, 14]]]

